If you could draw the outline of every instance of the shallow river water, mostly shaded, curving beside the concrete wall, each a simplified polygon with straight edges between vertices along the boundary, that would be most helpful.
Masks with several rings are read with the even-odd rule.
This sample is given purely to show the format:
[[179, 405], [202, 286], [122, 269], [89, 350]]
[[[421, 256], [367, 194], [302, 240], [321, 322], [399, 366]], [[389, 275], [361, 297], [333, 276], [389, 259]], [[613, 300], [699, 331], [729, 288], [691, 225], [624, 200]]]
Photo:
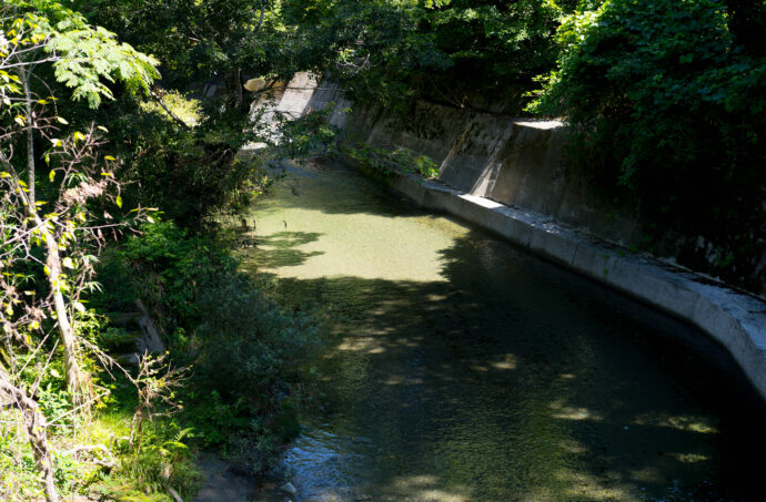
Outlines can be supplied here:
[[292, 500], [766, 500], [763, 406], [698, 331], [340, 163], [290, 172], [242, 253], [324, 319]]

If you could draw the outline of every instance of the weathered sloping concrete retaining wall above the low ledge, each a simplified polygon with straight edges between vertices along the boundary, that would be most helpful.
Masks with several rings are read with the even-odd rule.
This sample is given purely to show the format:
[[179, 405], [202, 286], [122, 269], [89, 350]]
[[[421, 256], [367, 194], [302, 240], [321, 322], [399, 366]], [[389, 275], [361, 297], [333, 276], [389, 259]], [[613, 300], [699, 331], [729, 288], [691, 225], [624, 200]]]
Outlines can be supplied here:
[[[331, 90], [309, 107], [350, 103]], [[407, 148], [440, 165], [440, 180], [461, 191], [520, 206], [557, 222], [587, 229], [624, 246], [638, 244], [642, 225], [629, 204], [599, 194], [587, 173], [562, 162], [565, 142], [560, 122], [533, 122], [419, 103], [407, 120], [335, 114], [333, 121], [365, 143]]]

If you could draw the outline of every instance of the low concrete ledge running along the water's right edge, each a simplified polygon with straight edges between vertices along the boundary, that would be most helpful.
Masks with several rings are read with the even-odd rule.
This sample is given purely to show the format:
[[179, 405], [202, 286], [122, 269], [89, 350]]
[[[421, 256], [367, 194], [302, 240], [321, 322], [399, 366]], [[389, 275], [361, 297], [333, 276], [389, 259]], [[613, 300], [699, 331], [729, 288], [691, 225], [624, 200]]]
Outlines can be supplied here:
[[696, 326], [722, 344], [766, 401], [766, 305], [692, 272], [555, 223], [550, 216], [413, 175], [385, 182], [423, 208], [454, 215]]

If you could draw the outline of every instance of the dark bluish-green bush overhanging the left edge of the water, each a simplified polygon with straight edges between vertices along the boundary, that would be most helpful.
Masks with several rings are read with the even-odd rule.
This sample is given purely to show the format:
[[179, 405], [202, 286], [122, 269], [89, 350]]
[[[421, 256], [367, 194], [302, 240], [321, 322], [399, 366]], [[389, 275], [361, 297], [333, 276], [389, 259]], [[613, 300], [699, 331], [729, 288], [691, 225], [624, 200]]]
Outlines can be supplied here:
[[[300, 432], [300, 363], [318, 344], [309, 315], [286, 313], [243, 276], [201, 291], [193, 338], [194, 423], [251, 474], [273, 467]], [[221, 301], [225, 298], [225, 301]]]

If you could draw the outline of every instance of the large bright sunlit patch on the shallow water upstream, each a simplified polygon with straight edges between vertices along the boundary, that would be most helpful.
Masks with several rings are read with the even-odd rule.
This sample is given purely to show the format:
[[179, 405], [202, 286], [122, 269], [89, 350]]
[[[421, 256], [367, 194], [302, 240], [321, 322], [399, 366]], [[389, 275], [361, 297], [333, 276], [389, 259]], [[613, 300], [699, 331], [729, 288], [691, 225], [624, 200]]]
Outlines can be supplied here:
[[[322, 176], [322, 182], [294, 176], [278, 184], [273, 198], [266, 197], [248, 217], [259, 247], [249, 254], [259, 270], [300, 279], [445, 280], [440, 253], [467, 229], [432, 215], [387, 212], [390, 202], [376, 204], [380, 194], [365, 206], [357, 193], [365, 188], [355, 178], [332, 171]], [[342, 187], [330, 199], [322, 191], [329, 180]]]

